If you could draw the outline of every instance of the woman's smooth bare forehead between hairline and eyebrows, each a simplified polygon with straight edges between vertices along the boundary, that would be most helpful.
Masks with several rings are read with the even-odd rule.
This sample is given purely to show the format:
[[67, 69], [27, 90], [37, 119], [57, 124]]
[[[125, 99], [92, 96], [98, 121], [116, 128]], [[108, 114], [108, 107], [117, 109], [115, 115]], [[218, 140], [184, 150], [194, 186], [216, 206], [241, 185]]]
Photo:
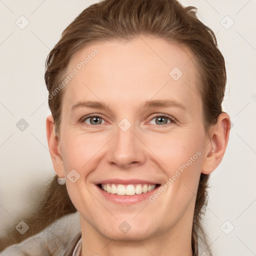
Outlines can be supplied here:
[[[170, 98], [200, 107], [192, 53], [161, 38], [136, 37], [88, 45], [70, 60], [63, 103], [102, 100], [123, 105]], [[132, 99], [132, 100], [131, 100]]]

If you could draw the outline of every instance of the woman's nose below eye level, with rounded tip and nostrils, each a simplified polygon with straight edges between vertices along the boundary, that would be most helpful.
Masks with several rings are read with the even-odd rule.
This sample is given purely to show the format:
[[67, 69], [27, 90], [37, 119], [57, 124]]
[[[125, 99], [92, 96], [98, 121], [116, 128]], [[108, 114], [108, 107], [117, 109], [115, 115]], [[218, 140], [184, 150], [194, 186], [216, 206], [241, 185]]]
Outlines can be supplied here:
[[139, 132], [132, 125], [126, 131], [117, 126], [116, 134], [109, 145], [108, 162], [122, 169], [143, 164], [146, 159], [146, 146], [141, 140]]

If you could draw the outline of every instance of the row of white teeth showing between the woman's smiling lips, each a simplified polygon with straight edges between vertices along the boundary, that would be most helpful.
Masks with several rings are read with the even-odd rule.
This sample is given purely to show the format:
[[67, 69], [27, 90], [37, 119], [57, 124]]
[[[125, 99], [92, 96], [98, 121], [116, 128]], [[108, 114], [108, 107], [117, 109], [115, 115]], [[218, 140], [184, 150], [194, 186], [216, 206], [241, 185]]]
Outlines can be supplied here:
[[114, 184], [114, 183], [99, 183], [97, 186], [111, 194], [117, 195], [135, 195], [141, 193], [147, 193], [160, 186], [160, 184], [146, 184], [146, 183], [138, 183], [138, 184]]

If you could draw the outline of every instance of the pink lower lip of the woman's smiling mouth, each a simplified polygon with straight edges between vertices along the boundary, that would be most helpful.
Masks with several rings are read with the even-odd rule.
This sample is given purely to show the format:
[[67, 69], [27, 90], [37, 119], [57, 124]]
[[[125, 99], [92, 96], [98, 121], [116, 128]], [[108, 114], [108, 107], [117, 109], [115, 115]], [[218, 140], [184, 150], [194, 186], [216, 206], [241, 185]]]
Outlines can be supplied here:
[[141, 193], [141, 194], [134, 194], [134, 195], [118, 195], [118, 194], [111, 194], [108, 193], [104, 190], [102, 190], [100, 187], [96, 185], [97, 189], [101, 192], [101, 194], [107, 199], [115, 203], [119, 204], [133, 204], [136, 202], [140, 202], [143, 200], [146, 200], [149, 198], [150, 195], [155, 193], [155, 191], [159, 188], [159, 186], [156, 186], [153, 190], [146, 192], [146, 193]]

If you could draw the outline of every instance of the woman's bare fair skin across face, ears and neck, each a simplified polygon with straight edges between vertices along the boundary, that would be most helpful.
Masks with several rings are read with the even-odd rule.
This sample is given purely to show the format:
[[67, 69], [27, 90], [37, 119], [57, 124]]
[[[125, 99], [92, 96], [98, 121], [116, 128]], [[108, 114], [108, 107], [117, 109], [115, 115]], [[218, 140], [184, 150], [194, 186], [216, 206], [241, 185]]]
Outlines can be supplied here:
[[[66, 177], [66, 186], [80, 213], [81, 255], [192, 255], [199, 176], [211, 173], [220, 163], [228, 141], [229, 116], [221, 113], [210, 136], [206, 135], [196, 87], [198, 71], [187, 48], [148, 36], [108, 40], [80, 50], [67, 73], [94, 48], [98, 54], [66, 85], [59, 138], [52, 116], [46, 120], [55, 172], [66, 177], [75, 169], [80, 175], [74, 183]], [[183, 73], [178, 80], [169, 75], [175, 66]], [[175, 100], [186, 109], [141, 108], [150, 99]], [[71, 111], [72, 105], [85, 100], [101, 101], [108, 108]], [[79, 122], [88, 114], [102, 117], [96, 120], [97, 127], [90, 118]], [[155, 118], [161, 114], [173, 116], [176, 122], [167, 119], [167, 126], [162, 127]], [[127, 131], [118, 126], [123, 118], [131, 123]], [[200, 156], [154, 202], [117, 204], [105, 199], [95, 186], [107, 178], [164, 184], [197, 151]], [[131, 227], [127, 233], [118, 229], [123, 221]]]

